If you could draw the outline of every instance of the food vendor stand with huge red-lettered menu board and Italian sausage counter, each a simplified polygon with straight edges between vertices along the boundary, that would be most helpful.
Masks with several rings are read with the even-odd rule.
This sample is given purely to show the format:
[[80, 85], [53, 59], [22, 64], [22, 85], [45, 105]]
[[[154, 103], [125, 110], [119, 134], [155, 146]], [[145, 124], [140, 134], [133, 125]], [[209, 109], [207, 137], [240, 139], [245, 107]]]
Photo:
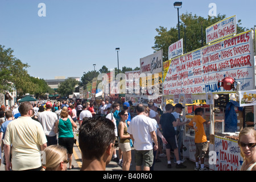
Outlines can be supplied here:
[[[232, 18], [228, 21], [235, 19]], [[220, 26], [221, 23], [218, 23], [217, 26]], [[237, 140], [244, 126], [244, 114], [239, 107], [238, 91], [255, 89], [253, 31], [235, 34], [215, 40], [217, 42], [212, 41], [208, 46], [175, 57], [164, 64], [164, 102], [172, 99], [174, 104], [178, 103], [180, 98], [175, 96], [180, 94], [192, 94], [192, 100], [207, 100], [208, 107], [200, 105], [204, 107], [203, 117], [210, 120], [210, 126], [205, 126], [209, 142], [205, 166], [214, 171], [240, 170], [243, 159]], [[234, 78], [234, 88], [224, 89], [226, 85], [221, 85], [220, 81], [225, 77]], [[183, 118], [187, 116], [191, 119], [193, 116], [186, 111], [187, 108], [183, 110]], [[183, 158], [195, 161], [195, 133], [188, 128], [185, 131]]]

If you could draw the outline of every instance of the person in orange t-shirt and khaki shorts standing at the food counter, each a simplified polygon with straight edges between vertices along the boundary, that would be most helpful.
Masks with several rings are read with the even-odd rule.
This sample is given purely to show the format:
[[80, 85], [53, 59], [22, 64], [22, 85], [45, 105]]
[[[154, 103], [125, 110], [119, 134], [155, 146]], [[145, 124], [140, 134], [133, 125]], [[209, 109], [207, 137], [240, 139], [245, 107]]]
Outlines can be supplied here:
[[[195, 170], [207, 171], [207, 168], [204, 167], [204, 156], [208, 150], [207, 136], [204, 131], [204, 122], [205, 119], [202, 117], [203, 108], [197, 107], [195, 110], [195, 117], [187, 124], [191, 129], [195, 130], [195, 144], [196, 144], [196, 167]], [[208, 121], [206, 124], [210, 124]], [[199, 158], [201, 160], [201, 168], [199, 168]]]

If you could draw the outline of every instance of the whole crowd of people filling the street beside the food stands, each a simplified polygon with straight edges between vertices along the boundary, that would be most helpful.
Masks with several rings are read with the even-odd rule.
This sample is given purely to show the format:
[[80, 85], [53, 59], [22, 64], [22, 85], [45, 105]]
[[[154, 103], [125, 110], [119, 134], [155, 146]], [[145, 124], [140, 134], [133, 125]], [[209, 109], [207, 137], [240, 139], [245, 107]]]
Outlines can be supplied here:
[[[191, 121], [183, 121], [181, 104], [167, 104], [164, 112], [154, 102], [147, 106], [138, 104], [133, 118], [130, 106], [131, 102], [106, 100], [100, 106], [94, 102], [47, 101], [22, 102], [11, 109], [1, 107], [0, 139], [4, 155], [0, 160], [6, 171], [72, 169], [73, 146], [77, 143], [74, 134], [79, 131], [80, 170], [105, 170], [113, 160], [123, 171], [129, 171], [134, 157], [136, 170], [153, 171], [155, 162], [160, 162], [159, 156], [166, 157], [167, 168], [172, 168], [171, 150], [175, 167], [186, 168], [181, 154], [186, 125], [195, 130], [195, 170], [207, 170], [204, 157], [208, 142], [203, 123], [209, 121], [202, 117], [201, 107], [195, 110]], [[255, 170], [255, 140], [255, 130], [241, 132], [238, 144], [245, 157], [242, 169]], [[131, 155], [132, 148], [135, 156]], [[43, 165], [42, 152], [46, 157]]]

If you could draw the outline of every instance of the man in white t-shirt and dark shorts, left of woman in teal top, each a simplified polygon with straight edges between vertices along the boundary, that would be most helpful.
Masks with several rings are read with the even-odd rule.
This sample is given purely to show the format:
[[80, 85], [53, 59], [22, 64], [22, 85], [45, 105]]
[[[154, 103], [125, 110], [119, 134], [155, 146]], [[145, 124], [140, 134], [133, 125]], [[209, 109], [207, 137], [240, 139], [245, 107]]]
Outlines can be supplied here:
[[46, 110], [38, 114], [38, 120], [43, 126], [47, 138], [47, 146], [57, 144], [57, 136], [54, 132], [55, 122], [58, 120], [57, 114], [51, 111], [52, 102], [46, 102]]

